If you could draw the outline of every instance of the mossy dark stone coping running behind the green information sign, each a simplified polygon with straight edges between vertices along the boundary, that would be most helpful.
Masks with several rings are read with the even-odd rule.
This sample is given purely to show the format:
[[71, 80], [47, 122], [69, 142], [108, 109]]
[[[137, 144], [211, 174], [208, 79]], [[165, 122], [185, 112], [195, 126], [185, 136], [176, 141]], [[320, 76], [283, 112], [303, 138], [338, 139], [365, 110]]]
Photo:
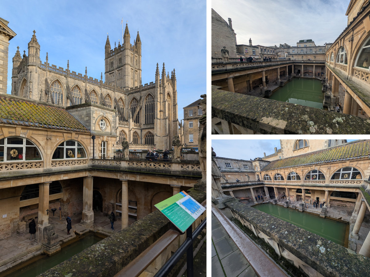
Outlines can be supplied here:
[[[205, 192], [192, 190], [188, 194], [199, 203], [206, 199]], [[149, 213], [39, 276], [114, 276], [171, 226], [172, 223], [161, 212]]]

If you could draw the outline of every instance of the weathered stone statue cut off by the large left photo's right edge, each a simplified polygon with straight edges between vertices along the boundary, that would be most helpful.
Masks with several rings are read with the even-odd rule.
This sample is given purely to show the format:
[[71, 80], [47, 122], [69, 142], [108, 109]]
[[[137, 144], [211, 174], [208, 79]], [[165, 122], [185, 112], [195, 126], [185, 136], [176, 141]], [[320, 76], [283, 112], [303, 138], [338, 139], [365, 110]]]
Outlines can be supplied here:
[[199, 108], [203, 111], [203, 115], [199, 119], [199, 134], [198, 134], [198, 151], [199, 163], [201, 164], [202, 180], [206, 182], [207, 168], [207, 95], [202, 94], [202, 100], [199, 101]]

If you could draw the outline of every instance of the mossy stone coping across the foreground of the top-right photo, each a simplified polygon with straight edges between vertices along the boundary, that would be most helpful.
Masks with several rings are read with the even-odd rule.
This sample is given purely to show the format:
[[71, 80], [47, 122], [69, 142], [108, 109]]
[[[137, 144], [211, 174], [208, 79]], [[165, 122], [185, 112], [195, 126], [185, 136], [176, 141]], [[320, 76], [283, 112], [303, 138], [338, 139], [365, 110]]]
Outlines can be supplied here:
[[212, 117], [261, 134], [370, 133], [369, 119], [218, 88], [212, 86]]

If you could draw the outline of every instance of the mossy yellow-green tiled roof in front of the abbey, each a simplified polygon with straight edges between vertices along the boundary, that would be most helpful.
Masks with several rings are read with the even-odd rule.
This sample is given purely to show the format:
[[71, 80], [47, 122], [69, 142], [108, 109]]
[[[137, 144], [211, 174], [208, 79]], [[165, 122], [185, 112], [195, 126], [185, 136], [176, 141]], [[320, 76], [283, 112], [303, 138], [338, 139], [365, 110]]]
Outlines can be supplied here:
[[0, 123], [89, 132], [65, 109], [0, 96]]

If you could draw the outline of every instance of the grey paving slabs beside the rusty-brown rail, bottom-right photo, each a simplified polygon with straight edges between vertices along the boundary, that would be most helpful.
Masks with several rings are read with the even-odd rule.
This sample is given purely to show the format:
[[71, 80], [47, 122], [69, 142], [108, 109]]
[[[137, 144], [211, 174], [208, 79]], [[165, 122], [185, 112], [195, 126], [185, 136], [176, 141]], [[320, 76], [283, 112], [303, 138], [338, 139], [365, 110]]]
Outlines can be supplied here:
[[219, 220], [212, 213], [212, 277], [257, 276]]

